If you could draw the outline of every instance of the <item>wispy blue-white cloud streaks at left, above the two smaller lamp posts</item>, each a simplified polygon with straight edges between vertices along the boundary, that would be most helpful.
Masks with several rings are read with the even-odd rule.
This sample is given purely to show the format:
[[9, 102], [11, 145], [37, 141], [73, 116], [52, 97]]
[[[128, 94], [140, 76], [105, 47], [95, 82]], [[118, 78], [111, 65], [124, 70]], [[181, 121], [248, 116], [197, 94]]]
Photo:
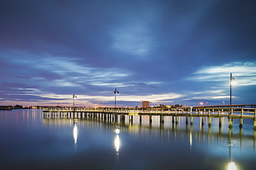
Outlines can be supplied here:
[[92, 67], [81, 63], [80, 60], [25, 51], [2, 54], [2, 61], [12, 66], [7, 69], [13, 78], [26, 79], [36, 84], [45, 83], [45, 86], [76, 87], [82, 84], [103, 86], [130, 75], [130, 72], [122, 68]]

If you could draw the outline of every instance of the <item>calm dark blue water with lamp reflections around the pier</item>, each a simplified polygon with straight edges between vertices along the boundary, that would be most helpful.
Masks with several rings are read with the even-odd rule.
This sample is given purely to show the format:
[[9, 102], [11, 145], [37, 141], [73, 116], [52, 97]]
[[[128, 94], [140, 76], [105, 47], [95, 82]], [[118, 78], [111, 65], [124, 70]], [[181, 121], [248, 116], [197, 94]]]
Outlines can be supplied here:
[[[40, 110], [0, 111], [0, 169], [255, 169], [252, 120], [219, 129], [166, 117], [119, 123], [44, 119]], [[206, 122], [206, 120], [205, 120]], [[120, 130], [120, 132], [119, 132]]]

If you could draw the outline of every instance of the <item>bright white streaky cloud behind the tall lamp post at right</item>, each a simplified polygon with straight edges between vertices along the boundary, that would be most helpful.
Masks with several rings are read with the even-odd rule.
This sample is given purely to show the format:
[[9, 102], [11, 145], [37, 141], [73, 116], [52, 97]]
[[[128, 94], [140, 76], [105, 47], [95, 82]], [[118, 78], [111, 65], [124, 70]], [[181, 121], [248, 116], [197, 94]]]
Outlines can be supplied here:
[[[201, 67], [185, 80], [192, 84], [186, 101], [206, 100], [220, 104], [230, 99], [230, 73], [235, 83], [232, 85], [232, 97], [235, 102], [254, 100], [246, 89], [254, 92], [256, 85], [256, 61], [231, 62], [219, 66]], [[197, 89], [198, 88], [198, 89]]]

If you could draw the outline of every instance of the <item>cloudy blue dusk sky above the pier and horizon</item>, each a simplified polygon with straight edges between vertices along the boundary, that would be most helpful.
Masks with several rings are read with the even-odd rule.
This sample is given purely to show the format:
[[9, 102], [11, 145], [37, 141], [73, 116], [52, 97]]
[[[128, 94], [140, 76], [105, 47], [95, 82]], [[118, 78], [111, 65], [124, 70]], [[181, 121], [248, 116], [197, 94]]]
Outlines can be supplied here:
[[2, 0], [0, 105], [256, 104], [254, 0]]

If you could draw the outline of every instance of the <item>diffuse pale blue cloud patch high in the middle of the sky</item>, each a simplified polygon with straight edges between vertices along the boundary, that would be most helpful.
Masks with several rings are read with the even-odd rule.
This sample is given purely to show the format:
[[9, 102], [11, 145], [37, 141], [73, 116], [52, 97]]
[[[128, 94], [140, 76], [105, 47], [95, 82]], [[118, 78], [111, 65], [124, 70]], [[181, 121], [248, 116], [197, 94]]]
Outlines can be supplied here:
[[133, 6], [125, 7], [124, 12], [119, 14], [121, 21], [109, 30], [111, 48], [114, 51], [131, 54], [136, 59], [146, 59], [156, 48], [153, 26], [158, 22], [159, 9], [149, 3], [145, 6], [139, 2], [141, 10]]

